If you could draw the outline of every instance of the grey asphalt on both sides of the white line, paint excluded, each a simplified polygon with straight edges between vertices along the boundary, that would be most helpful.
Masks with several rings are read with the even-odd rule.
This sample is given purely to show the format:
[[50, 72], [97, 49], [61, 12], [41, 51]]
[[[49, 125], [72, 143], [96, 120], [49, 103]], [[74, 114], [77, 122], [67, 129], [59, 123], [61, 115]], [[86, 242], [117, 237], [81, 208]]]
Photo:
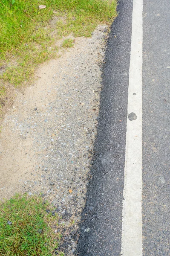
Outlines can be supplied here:
[[[120, 0], [118, 3], [119, 15], [112, 24], [105, 56], [98, 136], [91, 169], [92, 179], [89, 182], [86, 207], [82, 215], [78, 256], [141, 255], [121, 252], [133, 0]], [[170, 3], [168, 0], [161, 3], [158, 0], [143, 0], [141, 75], [143, 84], [142, 255], [169, 256]], [[133, 218], [133, 215], [131, 217]]]

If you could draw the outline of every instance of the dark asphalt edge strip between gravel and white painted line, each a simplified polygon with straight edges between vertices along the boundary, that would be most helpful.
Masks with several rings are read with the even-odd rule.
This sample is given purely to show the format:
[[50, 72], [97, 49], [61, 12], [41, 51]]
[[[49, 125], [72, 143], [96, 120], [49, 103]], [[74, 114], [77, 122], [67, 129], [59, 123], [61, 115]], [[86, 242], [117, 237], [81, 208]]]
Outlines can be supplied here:
[[122, 201], [133, 1], [119, 1], [103, 70], [98, 136], [78, 256], [121, 253]]

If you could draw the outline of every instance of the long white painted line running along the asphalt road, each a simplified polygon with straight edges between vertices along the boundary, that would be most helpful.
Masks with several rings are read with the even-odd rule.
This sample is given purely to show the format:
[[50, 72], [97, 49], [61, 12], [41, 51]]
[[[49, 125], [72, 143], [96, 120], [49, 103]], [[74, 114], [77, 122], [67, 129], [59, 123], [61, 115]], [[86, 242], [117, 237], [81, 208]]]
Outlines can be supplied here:
[[[133, 1], [121, 255], [142, 256], [142, 0]], [[136, 93], [136, 95], [133, 95]]]

